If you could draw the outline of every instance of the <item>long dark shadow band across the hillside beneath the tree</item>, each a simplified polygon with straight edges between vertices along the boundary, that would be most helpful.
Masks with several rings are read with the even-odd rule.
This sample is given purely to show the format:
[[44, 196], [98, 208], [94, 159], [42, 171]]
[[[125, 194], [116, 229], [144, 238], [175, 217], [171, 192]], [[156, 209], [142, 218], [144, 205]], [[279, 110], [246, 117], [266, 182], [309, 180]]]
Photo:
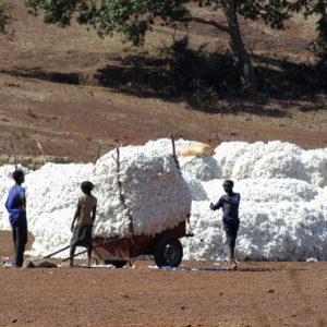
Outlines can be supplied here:
[[[244, 87], [230, 52], [209, 53], [204, 48], [191, 50], [180, 40], [164, 48], [158, 57], [145, 53], [112, 58], [106, 66], [87, 76], [85, 73], [47, 72], [40, 68], [2, 69], [0, 72], [33, 81], [97, 85], [143, 98], [185, 101], [191, 110], [213, 114], [249, 112], [289, 117], [290, 106], [301, 111], [326, 109], [318, 104], [319, 95], [326, 89], [317, 86], [315, 66], [253, 56], [259, 76], [259, 88], [253, 93]], [[266, 108], [270, 99], [278, 100], [279, 108]]]

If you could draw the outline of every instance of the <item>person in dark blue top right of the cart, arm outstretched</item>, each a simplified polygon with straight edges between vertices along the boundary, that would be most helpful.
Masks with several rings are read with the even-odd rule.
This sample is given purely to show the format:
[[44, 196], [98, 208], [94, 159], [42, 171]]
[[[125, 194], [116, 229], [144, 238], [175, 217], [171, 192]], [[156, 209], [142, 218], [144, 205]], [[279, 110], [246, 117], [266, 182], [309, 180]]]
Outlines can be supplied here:
[[222, 195], [217, 204], [210, 204], [210, 209], [217, 210], [222, 207], [222, 221], [226, 232], [226, 243], [228, 245], [229, 269], [237, 269], [234, 259], [235, 242], [240, 226], [239, 205], [241, 196], [233, 192], [233, 181], [227, 180], [222, 183], [226, 195]]

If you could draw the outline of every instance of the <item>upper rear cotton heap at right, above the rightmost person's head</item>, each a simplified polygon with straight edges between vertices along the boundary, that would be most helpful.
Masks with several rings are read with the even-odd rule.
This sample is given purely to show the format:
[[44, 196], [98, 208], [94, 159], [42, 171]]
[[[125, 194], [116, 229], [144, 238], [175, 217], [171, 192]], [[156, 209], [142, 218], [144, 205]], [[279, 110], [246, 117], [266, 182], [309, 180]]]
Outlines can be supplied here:
[[327, 149], [303, 150], [296, 145], [274, 141], [223, 142], [215, 159], [222, 179], [298, 179], [316, 186], [327, 185]]

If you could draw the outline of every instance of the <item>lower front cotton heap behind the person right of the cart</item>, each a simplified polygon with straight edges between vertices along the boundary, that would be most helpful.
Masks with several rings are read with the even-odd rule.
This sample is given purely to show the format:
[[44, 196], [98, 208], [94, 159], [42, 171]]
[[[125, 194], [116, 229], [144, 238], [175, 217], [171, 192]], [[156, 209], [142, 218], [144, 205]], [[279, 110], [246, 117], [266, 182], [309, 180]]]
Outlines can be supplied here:
[[[222, 214], [209, 209], [223, 193], [222, 181], [204, 183], [209, 201], [192, 203], [195, 239], [183, 241], [190, 259], [226, 258]], [[239, 259], [326, 258], [327, 187], [294, 179], [246, 179], [237, 181], [234, 191], [241, 194]]]

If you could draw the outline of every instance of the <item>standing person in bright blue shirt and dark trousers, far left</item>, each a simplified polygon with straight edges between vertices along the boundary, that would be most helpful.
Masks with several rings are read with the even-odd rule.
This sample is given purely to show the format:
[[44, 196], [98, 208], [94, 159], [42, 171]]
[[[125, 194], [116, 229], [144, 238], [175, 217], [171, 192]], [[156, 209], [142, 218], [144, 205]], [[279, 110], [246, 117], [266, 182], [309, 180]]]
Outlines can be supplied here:
[[25, 189], [22, 187], [25, 177], [22, 170], [15, 170], [12, 177], [15, 185], [9, 191], [4, 206], [9, 213], [9, 220], [12, 228], [15, 266], [22, 267], [25, 245], [27, 243], [26, 197]]

